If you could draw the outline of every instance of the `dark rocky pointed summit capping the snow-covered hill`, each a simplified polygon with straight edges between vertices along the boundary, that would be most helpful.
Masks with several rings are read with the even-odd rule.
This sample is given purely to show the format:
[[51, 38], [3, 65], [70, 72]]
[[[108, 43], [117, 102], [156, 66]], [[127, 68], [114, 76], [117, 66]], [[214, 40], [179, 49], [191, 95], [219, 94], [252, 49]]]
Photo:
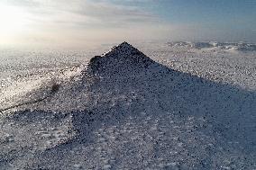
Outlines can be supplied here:
[[114, 75], [147, 68], [153, 63], [151, 58], [124, 41], [104, 55], [91, 58], [88, 70], [91, 70], [93, 74]]

